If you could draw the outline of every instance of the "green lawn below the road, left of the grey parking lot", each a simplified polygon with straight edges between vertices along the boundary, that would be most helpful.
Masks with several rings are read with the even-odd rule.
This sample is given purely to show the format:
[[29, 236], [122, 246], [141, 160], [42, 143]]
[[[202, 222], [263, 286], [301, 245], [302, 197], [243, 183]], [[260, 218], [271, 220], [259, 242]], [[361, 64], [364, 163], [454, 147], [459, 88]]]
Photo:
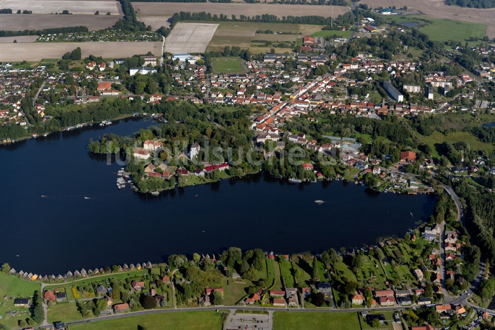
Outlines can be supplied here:
[[177, 312], [132, 316], [88, 324], [71, 325], [71, 330], [136, 330], [138, 326], [148, 330], [161, 329], [221, 329], [221, 314], [214, 311]]

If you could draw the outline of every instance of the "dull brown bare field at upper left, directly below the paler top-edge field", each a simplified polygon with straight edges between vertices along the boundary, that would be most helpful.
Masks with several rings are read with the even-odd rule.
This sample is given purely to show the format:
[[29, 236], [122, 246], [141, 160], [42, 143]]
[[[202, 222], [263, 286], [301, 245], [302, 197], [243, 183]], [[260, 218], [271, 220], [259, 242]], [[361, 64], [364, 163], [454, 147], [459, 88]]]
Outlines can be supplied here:
[[[1, 7], [1, 6], [0, 6]], [[2, 14], [0, 30], [42, 30], [56, 27], [84, 25], [88, 29], [101, 30], [115, 24], [117, 15], [46, 15], [46, 14]]]

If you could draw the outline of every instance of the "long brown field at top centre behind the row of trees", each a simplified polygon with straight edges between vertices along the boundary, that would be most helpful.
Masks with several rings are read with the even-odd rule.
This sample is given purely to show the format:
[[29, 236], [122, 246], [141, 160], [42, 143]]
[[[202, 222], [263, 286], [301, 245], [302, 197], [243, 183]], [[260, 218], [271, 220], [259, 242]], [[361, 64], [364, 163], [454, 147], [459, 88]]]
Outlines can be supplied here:
[[[282, 16], [318, 15], [330, 17], [331, 6], [311, 4], [267, 4], [267, 3], [211, 3], [211, 2], [133, 2], [138, 16], [172, 16], [176, 12], [210, 12], [212, 14], [254, 16], [272, 14]], [[349, 11], [344, 6], [333, 6], [334, 17]]]

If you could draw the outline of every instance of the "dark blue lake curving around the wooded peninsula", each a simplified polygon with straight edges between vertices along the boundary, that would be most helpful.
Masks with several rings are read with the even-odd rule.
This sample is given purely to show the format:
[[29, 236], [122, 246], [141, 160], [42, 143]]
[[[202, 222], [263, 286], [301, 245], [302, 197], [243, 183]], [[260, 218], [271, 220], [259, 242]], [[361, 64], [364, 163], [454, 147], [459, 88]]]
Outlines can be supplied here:
[[112, 172], [120, 165], [89, 154], [88, 140], [149, 124], [130, 119], [1, 147], [0, 263], [56, 275], [229, 246], [320, 252], [403, 234], [433, 210], [429, 195], [378, 194], [340, 181], [295, 185], [262, 174], [159, 197], [118, 190]]

